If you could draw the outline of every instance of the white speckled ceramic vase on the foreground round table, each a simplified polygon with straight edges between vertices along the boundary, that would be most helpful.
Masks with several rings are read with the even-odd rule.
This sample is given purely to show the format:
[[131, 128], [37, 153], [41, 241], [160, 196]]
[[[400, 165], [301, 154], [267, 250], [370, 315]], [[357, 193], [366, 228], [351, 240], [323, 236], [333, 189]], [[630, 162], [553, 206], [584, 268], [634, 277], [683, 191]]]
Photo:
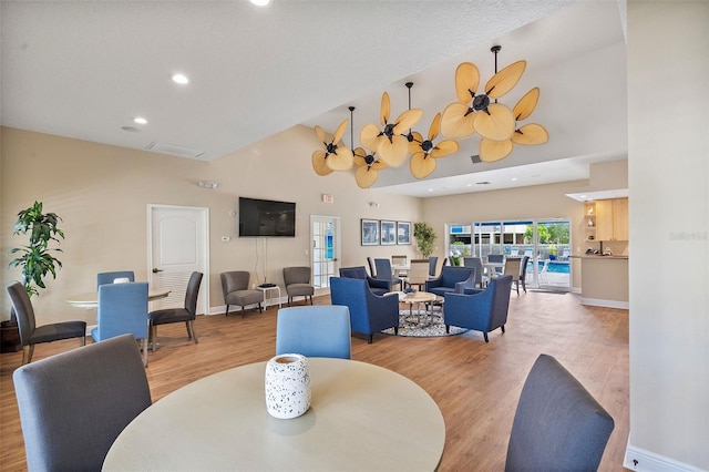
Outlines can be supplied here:
[[274, 357], [266, 365], [266, 409], [274, 418], [297, 418], [310, 408], [308, 358], [298, 353]]

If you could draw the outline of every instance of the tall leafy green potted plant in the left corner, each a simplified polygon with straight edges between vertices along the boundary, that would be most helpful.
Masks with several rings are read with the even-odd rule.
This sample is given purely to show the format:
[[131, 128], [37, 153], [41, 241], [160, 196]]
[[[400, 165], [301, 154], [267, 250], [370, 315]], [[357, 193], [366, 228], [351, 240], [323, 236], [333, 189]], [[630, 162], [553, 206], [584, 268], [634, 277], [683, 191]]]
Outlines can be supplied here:
[[[61, 249], [50, 247], [52, 242], [59, 243], [59, 238], [64, 238], [64, 232], [58, 227], [59, 222], [61, 218], [56, 214], [42, 213], [41, 202], [34, 202], [32, 206], [18, 213], [13, 235], [29, 233], [30, 240], [27, 246], [10, 249], [10, 254], [17, 257], [10, 260], [8, 268], [21, 268], [22, 285], [30, 298], [33, 295], [39, 296], [39, 289], [47, 288], [44, 278], [49, 274], [56, 278], [56, 268], [62, 266], [62, 263], [52, 255], [55, 252], [61, 253]], [[11, 331], [17, 332], [17, 319], [12, 310], [10, 321], [2, 322], [3, 351], [6, 343], [11, 342], [13, 338]], [[19, 334], [17, 342], [19, 343]]]

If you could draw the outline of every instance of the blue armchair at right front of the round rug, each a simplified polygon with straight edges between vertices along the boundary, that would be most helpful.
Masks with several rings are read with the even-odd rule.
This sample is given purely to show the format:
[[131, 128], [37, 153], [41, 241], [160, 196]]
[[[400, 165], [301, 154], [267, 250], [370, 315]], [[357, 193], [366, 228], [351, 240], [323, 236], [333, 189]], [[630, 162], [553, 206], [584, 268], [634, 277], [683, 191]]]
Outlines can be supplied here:
[[485, 342], [487, 332], [501, 328], [505, 332], [512, 276], [493, 278], [487, 288], [465, 289], [464, 294], [445, 294], [443, 324], [445, 332], [451, 325], [482, 331]]

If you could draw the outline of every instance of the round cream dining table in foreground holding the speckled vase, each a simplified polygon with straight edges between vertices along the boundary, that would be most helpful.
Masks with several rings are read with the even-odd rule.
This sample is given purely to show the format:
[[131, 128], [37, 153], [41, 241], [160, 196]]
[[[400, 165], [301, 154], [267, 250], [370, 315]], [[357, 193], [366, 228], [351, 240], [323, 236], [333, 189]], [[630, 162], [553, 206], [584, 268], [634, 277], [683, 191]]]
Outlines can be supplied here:
[[312, 397], [301, 417], [268, 414], [266, 362], [189, 383], [138, 414], [104, 471], [432, 471], [443, 454], [439, 407], [391, 370], [309, 358]]

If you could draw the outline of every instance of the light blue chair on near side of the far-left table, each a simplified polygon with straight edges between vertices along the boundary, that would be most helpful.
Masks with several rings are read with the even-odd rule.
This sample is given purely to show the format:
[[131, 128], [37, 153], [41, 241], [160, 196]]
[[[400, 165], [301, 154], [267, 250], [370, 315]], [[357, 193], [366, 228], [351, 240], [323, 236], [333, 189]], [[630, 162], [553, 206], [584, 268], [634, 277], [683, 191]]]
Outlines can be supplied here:
[[105, 284], [99, 286], [97, 326], [91, 337], [100, 342], [121, 335], [143, 340], [143, 365], [147, 367], [147, 283]]

